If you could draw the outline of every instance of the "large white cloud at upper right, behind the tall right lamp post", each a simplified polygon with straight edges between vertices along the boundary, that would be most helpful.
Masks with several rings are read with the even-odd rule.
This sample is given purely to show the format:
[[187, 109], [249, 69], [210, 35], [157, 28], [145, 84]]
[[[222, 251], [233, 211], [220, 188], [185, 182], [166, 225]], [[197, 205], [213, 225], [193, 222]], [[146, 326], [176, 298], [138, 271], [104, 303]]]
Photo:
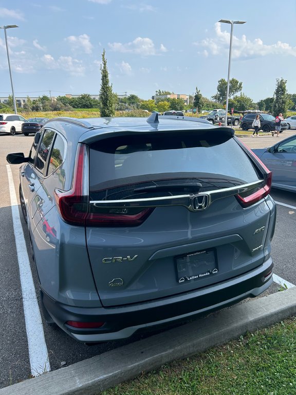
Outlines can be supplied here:
[[[209, 53], [212, 55], [220, 55], [225, 52], [229, 52], [230, 43], [230, 32], [227, 30], [221, 30], [221, 24], [217, 22], [215, 24], [216, 37], [213, 39], [205, 39], [201, 42], [194, 43], [199, 47], [206, 48], [204, 50], [204, 56], [208, 56]], [[248, 40], [246, 35], [243, 34], [242, 38], [239, 39], [235, 35], [232, 37], [232, 58], [256, 58], [267, 55], [290, 55], [296, 57], [296, 47], [290, 46], [290, 44], [282, 43], [278, 41], [275, 44], [267, 45], [264, 44], [261, 39], [255, 39], [253, 41]]]

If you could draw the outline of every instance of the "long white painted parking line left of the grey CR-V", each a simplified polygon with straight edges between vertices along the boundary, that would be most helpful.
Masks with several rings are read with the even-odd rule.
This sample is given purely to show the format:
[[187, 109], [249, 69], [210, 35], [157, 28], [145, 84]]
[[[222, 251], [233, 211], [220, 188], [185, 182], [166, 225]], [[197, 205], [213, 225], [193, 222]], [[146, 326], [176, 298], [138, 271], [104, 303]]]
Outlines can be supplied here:
[[27, 247], [23, 234], [20, 213], [18, 211], [18, 202], [16, 199], [12, 172], [9, 165], [6, 165], [6, 168], [9, 182], [17, 260], [18, 266], [20, 268], [31, 373], [33, 376], [37, 376], [41, 373], [49, 371], [50, 365], [48, 360], [48, 352], [44, 338], [40, 310], [38, 307], [38, 301], [36, 298], [36, 292], [30, 268], [30, 261], [27, 254]]

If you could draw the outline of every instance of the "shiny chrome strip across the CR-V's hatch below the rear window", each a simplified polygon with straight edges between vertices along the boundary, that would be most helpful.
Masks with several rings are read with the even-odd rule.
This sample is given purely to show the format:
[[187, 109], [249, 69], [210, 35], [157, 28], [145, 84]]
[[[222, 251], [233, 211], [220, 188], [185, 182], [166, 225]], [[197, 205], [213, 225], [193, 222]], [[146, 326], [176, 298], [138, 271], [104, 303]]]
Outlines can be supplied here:
[[[92, 200], [89, 203], [97, 208], [122, 208], [122, 207], [164, 207], [164, 206], [184, 206], [189, 211], [199, 211], [196, 209], [194, 199], [197, 196], [209, 196], [208, 205], [223, 197], [233, 196], [247, 192], [254, 188], [260, 188], [265, 185], [264, 180], [256, 181], [254, 183], [244, 184], [239, 187], [231, 187], [208, 191], [206, 193], [186, 194], [177, 196], [164, 196], [164, 197], [148, 197], [146, 199], [126, 199], [126, 200]], [[205, 207], [204, 209], [206, 209]]]

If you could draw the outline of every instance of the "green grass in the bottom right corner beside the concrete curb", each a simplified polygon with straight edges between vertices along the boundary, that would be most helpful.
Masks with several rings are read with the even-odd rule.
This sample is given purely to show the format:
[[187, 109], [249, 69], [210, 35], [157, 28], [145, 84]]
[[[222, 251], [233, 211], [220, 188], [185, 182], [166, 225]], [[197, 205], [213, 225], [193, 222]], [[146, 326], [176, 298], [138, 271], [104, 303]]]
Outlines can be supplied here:
[[296, 318], [143, 373], [103, 394], [296, 394]]

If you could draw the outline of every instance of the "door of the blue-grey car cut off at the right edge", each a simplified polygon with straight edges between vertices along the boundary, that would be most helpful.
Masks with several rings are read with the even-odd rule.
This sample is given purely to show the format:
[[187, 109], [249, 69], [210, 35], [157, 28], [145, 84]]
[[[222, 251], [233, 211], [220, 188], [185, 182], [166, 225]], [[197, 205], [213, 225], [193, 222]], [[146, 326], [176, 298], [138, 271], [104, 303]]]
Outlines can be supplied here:
[[272, 184], [296, 191], [296, 136], [266, 151], [261, 160], [272, 171]]

